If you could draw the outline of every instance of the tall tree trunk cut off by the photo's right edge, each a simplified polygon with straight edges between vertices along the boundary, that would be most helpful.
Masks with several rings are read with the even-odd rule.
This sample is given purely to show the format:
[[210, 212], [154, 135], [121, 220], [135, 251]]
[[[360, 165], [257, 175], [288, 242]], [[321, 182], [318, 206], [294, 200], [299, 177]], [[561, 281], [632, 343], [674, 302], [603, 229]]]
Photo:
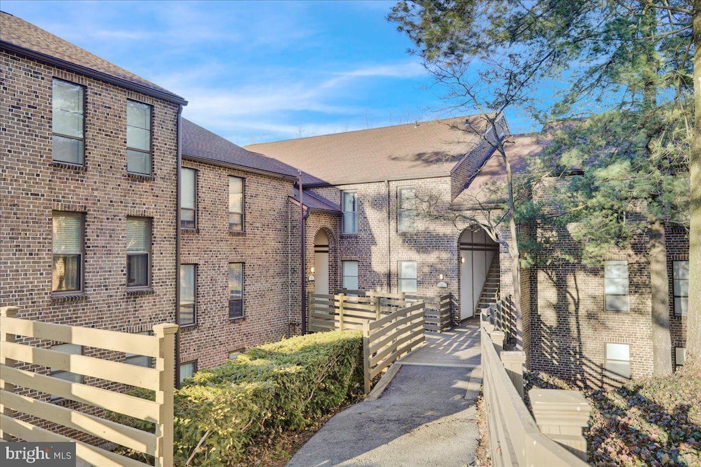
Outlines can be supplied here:
[[690, 165], [689, 306], [686, 363], [701, 367], [701, 0], [694, 0], [694, 130]]

